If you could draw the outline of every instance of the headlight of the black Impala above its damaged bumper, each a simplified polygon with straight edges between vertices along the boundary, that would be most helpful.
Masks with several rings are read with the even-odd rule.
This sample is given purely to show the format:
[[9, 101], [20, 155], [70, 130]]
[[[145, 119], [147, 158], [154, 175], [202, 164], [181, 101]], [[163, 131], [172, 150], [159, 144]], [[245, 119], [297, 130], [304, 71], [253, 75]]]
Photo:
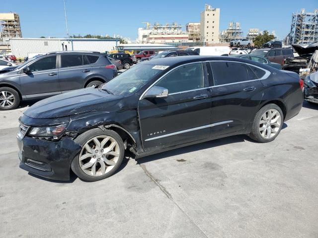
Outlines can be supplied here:
[[58, 139], [66, 129], [67, 124], [55, 125], [55, 126], [39, 126], [31, 127], [29, 136], [32, 137], [45, 137]]

